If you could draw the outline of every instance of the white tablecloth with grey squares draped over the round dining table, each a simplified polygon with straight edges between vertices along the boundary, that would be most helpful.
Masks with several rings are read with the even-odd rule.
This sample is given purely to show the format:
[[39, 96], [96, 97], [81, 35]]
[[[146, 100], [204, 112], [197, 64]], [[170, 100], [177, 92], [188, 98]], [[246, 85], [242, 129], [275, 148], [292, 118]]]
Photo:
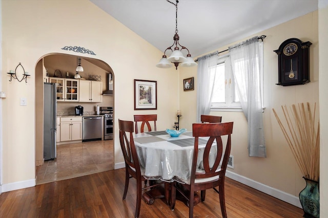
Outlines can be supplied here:
[[[202, 169], [203, 149], [206, 138], [199, 139], [197, 168]], [[194, 152], [192, 132], [171, 137], [165, 131], [139, 133], [134, 136], [140, 166], [145, 168], [145, 178], [189, 183]], [[214, 163], [217, 150], [213, 146], [210, 164]]]

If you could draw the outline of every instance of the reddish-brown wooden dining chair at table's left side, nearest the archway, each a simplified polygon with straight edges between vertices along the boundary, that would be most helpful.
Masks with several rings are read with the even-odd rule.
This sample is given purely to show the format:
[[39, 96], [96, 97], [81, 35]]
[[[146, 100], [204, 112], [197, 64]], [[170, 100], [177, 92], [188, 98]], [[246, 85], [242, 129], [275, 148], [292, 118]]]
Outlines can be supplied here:
[[135, 208], [135, 217], [139, 217], [142, 190], [153, 188], [162, 183], [142, 187], [142, 181], [146, 180], [146, 178], [144, 177], [145, 169], [141, 168], [139, 165], [137, 151], [133, 140], [133, 121], [125, 121], [118, 119], [118, 127], [119, 142], [121, 145], [121, 150], [123, 152], [126, 170], [123, 200], [125, 200], [127, 197], [130, 178], [135, 178], [137, 180], [137, 202]]

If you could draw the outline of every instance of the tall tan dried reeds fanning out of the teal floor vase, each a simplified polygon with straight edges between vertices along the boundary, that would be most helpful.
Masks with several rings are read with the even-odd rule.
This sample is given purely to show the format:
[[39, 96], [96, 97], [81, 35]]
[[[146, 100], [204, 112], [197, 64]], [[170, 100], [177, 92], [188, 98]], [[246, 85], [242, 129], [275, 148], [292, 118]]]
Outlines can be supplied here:
[[290, 108], [281, 106], [286, 125], [279, 119], [276, 111], [273, 113], [279, 123], [282, 133], [288, 142], [297, 165], [306, 179], [319, 181], [319, 121], [316, 125], [316, 104], [312, 114], [310, 103], [295, 104]]

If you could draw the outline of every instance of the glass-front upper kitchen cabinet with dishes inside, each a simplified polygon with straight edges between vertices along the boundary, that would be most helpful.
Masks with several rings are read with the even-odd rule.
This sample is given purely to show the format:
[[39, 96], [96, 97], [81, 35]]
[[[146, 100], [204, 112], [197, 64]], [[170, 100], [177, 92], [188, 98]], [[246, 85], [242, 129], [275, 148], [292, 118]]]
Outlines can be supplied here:
[[78, 79], [66, 79], [58, 77], [49, 77], [49, 82], [56, 83], [56, 98], [57, 101], [78, 102]]

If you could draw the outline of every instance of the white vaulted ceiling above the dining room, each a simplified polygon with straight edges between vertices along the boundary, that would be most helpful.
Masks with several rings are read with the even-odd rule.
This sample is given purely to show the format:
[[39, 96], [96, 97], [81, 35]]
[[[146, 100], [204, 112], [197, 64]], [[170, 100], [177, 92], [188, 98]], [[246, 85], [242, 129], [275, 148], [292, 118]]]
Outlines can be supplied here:
[[[175, 6], [166, 0], [90, 1], [160, 51], [173, 44]], [[179, 42], [196, 57], [317, 9], [318, 0], [179, 0]]]

